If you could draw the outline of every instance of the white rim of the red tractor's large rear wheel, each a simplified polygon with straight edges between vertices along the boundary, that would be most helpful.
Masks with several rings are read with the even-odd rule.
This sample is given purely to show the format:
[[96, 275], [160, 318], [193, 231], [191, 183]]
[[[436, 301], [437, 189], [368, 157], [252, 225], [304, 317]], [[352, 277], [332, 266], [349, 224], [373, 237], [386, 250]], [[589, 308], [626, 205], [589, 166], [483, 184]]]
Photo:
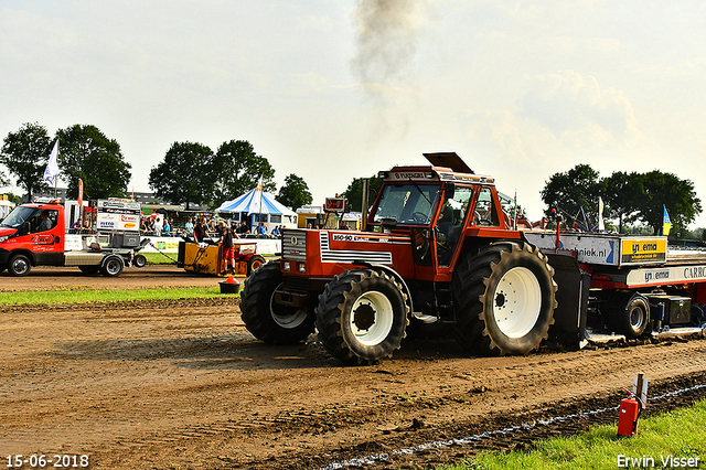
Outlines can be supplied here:
[[532, 331], [539, 318], [539, 281], [527, 268], [512, 268], [498, 282], [492, 302], [500, 331], [507, 338], [522, 338]]

